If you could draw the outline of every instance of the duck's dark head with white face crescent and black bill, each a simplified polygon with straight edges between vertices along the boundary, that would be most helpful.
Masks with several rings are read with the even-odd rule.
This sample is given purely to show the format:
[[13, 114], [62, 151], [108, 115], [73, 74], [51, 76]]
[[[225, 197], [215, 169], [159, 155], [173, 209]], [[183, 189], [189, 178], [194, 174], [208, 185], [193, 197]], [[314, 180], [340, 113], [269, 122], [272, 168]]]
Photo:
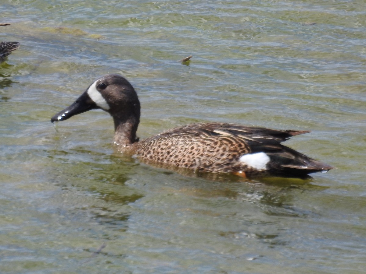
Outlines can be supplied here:
[[140, 103], [132, 85], [119, 74], [107, 74], [95, 80], [74, 103], [53, 115], [51, 122], [92, 109], [105, 110], [115, 120], [140, 117]]

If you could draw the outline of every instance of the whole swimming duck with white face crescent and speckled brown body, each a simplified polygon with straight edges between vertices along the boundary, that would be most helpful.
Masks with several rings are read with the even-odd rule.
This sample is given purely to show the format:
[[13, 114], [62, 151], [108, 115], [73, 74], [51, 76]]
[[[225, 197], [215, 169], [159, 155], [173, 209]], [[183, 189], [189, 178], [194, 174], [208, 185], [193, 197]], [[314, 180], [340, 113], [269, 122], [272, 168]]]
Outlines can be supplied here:
[[308, 174], [333, 168], [281, 144], [309, 131], [194, 123], [140, 141], [136, 137], [140, 102], [132, 85], [118, 74], [95, 80], [71, 106], [54, 115], [51, 122], [64, 121], [92, 109], [102, 109], [113, 117], [113, 141], [119, 151], [150, 164], [232, 173], [244, 178], [307, 178]]

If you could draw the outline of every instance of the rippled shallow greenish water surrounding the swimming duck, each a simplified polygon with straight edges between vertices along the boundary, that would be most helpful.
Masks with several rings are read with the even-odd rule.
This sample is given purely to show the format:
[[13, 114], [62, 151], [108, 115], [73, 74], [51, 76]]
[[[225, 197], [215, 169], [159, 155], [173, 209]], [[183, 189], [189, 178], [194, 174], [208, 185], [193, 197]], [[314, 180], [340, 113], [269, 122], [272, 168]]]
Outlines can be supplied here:
[[[363, 1], [10, 1], [0, 65], [1, 273], [364, 273]], [[193, 55], [189, 64], [178, 60]], [[312, 130], [311, 180], [187, 177], [113, 150], [97, 77], [138, 91], [138, 134], [221, 121]]]

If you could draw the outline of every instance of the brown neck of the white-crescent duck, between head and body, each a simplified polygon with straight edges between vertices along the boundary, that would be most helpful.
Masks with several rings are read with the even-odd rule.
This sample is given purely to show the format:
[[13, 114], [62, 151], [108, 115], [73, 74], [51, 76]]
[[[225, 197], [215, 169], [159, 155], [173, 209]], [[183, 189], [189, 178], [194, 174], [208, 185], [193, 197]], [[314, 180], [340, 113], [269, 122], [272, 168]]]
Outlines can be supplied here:
[[136, 138], [136, 131], [140, 122], [139, 118], [129, 117], [126, 119], [119, 119], [113, 117], [115, 124], [115, 136], [113, 142], [116, 145], [127, 147], [138, 141]]

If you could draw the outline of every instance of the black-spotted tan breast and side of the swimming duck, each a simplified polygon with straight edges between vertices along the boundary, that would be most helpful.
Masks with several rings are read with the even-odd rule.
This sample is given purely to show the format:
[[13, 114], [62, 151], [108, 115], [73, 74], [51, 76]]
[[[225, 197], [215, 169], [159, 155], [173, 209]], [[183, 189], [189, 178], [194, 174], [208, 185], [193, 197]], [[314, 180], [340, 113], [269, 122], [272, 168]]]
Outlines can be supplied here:
[[[237, 127], [236, 132], [232, 132]], [[263, 176], [267, 171], [255, 170], [239, 161], [250, 153], [249, 136], [238, 125], [198, 123], [182, 126], [157, 136], [135, 142], [125, 152], [137, 155], [148, 163], [164, 163], [202, 172], [239, 172], [247, 176]], [[242, 134], [239, 134], [241, 132]]]

